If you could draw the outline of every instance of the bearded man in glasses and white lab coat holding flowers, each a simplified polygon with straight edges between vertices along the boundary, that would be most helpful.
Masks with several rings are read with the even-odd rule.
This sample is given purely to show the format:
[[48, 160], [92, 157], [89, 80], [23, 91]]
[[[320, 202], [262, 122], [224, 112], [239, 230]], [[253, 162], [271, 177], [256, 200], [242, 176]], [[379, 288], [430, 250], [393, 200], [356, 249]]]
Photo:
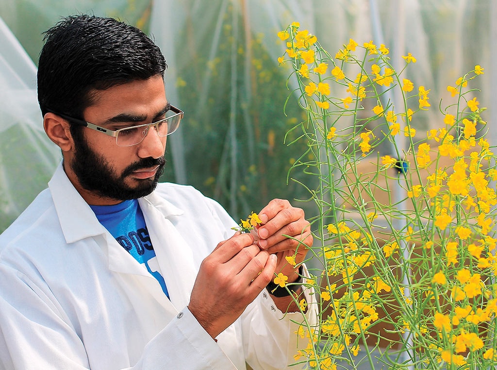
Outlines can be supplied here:
[[307, 274], [303, 211], [269, 202], [255, 240], [192, 187], [157, 184], [183, 114], [165, 69], [114, 19], [47, 31], [38, 99], [63, 161], [0, 236], [1, 368], [281, 369], [307, 345], [294, 332], [313, 296], [292, 287], [304, 318], [286, 288], [265, 288]]

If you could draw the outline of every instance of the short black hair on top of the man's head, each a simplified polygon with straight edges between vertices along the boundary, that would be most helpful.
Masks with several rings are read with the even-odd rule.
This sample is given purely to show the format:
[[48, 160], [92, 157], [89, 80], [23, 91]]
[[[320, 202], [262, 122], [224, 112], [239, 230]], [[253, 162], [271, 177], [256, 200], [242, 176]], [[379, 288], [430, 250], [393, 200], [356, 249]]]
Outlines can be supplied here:
[[158, 75], [164, 78], [167, 68], [161, 50], [145, 33], [113, 18], [68, 16], [43, 39], [38, 63], [43, 115], [50, 109], [83, 119], [92, 91]]

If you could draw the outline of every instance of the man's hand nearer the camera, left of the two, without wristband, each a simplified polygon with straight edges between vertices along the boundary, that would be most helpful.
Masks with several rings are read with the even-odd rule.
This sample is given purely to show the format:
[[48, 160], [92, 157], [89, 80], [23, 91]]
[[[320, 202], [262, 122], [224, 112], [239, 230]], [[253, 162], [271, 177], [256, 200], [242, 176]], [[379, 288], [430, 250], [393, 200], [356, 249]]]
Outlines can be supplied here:
[[271, 281], [276, 259], [236, 233], [218, 244], [200, 265], [188, 309], [215, 338], [230, 326]]

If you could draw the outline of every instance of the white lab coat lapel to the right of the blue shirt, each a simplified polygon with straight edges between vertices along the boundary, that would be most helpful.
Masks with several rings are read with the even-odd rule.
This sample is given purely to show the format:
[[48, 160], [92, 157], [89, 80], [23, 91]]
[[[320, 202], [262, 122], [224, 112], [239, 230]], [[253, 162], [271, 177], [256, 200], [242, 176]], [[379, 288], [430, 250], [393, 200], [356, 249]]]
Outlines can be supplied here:
[[140, 199], [140, 207], [166, 281], [169, 298], [177, 309], [181, 309], [190, 301], [197, 276], [192, 249], [170, 220], [181, 217], [182, 211], [155, 194]]

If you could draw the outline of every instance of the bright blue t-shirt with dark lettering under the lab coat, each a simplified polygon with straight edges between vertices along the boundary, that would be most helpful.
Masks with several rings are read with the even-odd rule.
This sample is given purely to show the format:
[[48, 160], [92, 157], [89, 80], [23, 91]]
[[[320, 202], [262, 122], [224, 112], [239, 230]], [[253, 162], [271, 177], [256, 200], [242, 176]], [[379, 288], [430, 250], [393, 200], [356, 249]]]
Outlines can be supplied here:
[[119, 244], [159, 281], [169, 297], [138, 200], [125, 200], [115, 205], [90, 205], [90, 208]]

